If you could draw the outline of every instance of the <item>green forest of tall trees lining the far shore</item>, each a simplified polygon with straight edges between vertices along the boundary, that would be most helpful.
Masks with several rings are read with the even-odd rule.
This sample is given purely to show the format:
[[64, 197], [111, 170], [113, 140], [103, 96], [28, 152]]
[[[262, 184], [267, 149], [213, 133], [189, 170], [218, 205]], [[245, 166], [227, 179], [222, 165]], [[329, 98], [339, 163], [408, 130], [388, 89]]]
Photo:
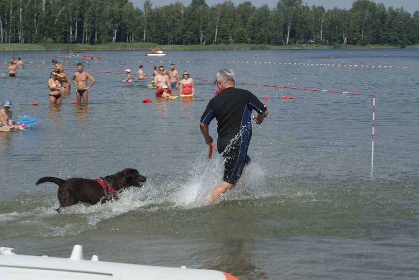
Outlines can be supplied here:
[[[336, 2], [338, 3], [338, 2]], [[21, 44], [392, 45], [419, 43], [419, 12], [356, 0], [325, 10], [302, 0], [276, 7], [205, 0], [141, 8], [129, 0], [1, 0], [0, 42]]]

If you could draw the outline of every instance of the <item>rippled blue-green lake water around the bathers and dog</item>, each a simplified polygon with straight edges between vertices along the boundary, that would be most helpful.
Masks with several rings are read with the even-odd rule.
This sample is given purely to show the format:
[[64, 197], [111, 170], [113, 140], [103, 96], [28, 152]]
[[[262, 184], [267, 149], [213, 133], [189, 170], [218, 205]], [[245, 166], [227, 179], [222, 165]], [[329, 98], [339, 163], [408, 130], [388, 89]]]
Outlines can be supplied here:
[[[11, 99], [14, 116], [44, 120], [0, 133], [1, 246], [69, 257], [80, 244], [86, 258], [216, 269], [241, 280], [419, 278], [419, 50], [144, 54], [0, 53], [3, 71], [11, 56], [28, 66], [0, 77], [0, 99]], [[71, 104], [74, 85], [60, 107], [49, 106], [53, 58], [70, 77], [81, 61], [96, 79], [88, 106]], [[171, 63], [195, 79], [195, 97], [156, 100], [148, 81], [120, 82], [126, 68], [144, 64], [150, 74]], [[222, 160], [215, 152], [207, 160], [199, 119], [221, 68], [235, 71], [237, 87], [267, 97], [269, 116], [253, 126], [252, 164], [236, 189], [203, 207], [197, 197], [220, 182]], [[210, 130], [216, 138], [215, 120]], [[60, 214], [58, 186], [34, 185], [127, 167], [148, 177], [143, 188]]]

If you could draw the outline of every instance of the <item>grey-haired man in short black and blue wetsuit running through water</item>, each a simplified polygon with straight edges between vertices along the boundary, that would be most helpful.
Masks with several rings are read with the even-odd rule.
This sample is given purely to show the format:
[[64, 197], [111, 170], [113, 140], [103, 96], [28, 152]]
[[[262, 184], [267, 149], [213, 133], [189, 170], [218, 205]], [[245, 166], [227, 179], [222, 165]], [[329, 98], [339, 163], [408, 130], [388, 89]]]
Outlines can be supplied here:
[[216, 186], [206, 198], [205, 204], [216, 202], [220, 196], [232, 190], [246, 164], [250, 162], [247, 155], [252, 137], [252, 110], [256, 124], [261, 124], [268, 115], [268, 109], [253, 93], [235, 88], [233, 70], [222, 69], [214, 78], [220, 93], [213, 97], [201, 116], [200, 129], [207, 144], [211, 144], [209, 125], [213, 118], [218, 121], [218, 152], [224, 157], [223, 182]]

